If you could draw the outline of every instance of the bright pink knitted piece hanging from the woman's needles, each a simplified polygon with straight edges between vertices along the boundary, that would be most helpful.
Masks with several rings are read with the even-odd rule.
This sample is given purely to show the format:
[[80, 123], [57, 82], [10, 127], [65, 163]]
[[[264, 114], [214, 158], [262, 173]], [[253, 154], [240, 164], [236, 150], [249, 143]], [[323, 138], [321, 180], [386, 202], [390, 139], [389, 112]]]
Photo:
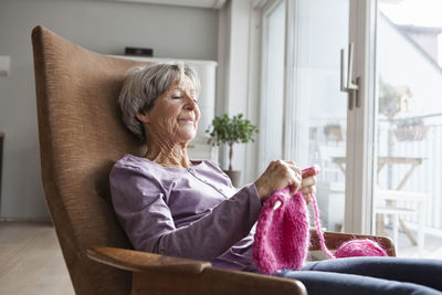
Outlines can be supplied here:
[[[273, 210], [276, 201], [282, 204]], [[293, 197], [288, 188], [275, 192], [262, 209], [254, 238], [253, 259], [262, 273], [301, 268], [309, 243], [308, 211], [301, 192]]]

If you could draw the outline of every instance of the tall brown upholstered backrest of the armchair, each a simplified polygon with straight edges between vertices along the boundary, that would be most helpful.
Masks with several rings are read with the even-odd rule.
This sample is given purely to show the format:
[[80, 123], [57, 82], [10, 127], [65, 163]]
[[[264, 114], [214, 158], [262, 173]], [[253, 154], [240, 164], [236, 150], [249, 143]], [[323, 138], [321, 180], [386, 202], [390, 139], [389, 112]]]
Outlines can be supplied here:
[[131, 275], [86, 256], [92, 245], [128, 247], [110, 201], [108, 173], [143, 145], [117, 105], [140, 62], [85, 50], [43, 27], [32, 31], [41, 171], [45, 200], [76, 294], [129, 294]]

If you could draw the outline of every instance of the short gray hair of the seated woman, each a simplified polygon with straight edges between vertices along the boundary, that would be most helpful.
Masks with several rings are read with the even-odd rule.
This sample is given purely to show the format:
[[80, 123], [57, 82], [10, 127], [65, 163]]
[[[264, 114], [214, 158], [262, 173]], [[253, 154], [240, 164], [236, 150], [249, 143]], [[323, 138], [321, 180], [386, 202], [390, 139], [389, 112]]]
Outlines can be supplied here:
[[146, 140], [146, 133], [135, 115], [149, 110], [155, 101], [185, 75], [192, 82], [198, 96], [201, 88], [198, 74], [182, 62], [156, 63], [129, 70], [118, 103], [124, 124], [139, 139]]

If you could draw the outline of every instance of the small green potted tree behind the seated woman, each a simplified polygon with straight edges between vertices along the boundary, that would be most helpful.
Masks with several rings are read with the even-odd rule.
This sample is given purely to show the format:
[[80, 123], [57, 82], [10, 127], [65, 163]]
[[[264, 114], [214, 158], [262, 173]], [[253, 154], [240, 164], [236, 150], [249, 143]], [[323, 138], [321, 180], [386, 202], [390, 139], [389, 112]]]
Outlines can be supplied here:
[[242, 114], [230, 118], [228, 115], [215, 117], [212, 125], [208, 127], [206, 133], [210, 135], [208, 144], [219, 146], [221, 144], [229, 145], [229, 170], [224, 171], [234, 187], [239, 186], [241, 172], [232, 169], [233, 144], [246, 144], [255, 141], [254, 135], [257, 127], [249, 119], [243, 118]]

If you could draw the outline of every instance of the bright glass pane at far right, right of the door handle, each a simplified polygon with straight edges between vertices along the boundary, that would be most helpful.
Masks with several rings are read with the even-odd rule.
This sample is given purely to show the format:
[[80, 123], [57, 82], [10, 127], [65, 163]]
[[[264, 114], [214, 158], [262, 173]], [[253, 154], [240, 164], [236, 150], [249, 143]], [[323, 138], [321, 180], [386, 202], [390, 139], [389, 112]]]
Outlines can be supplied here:
[[442, 1], [379, 0], [373, 220], [400, 256], [442, 257]]

